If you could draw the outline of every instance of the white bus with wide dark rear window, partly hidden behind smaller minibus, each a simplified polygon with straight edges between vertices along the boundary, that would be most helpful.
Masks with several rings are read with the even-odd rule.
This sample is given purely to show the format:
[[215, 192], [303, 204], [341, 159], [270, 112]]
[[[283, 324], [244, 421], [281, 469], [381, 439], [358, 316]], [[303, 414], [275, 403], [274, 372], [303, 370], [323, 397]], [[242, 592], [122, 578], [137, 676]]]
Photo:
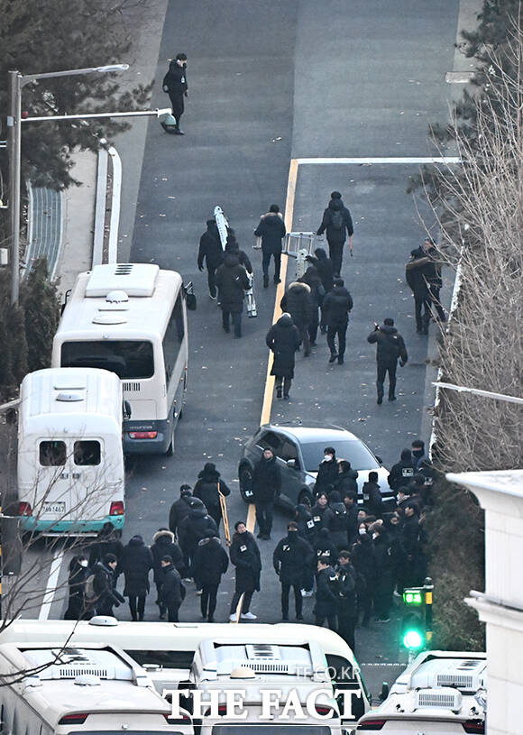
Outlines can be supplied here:
[[53, 367], [96, 367], [122, 381], [127, 454], [172, 454], [188, 379], [188, 322], [179, 273], [96, 265], [80, 273], [52, 346]]

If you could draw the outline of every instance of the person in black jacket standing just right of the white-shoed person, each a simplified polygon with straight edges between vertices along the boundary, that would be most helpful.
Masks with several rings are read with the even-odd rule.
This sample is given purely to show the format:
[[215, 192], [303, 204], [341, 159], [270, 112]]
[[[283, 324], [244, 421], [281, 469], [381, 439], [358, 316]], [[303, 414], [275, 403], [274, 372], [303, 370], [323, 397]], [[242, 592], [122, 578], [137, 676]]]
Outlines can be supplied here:
[[294, 521], [287, 524], [287, 536], [282, 538], [272, 554], [274, 571], [281, 583], [281, 618], [289, 620], [289, 593], [294, 592], [296, 620], [303, 620], [301, 587], [305, 583], [305, 572], [310, 568], [313, 551], [307, 541], [300, 537]]

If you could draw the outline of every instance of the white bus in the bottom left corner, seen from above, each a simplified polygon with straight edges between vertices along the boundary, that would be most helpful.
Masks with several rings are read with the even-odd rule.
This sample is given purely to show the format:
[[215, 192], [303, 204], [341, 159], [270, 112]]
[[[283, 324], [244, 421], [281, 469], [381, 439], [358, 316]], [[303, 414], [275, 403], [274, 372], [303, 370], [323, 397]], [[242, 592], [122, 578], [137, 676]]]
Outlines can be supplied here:
[[193, 735], [140, 666], [105, 646], [0, 646], [1, 735]]

